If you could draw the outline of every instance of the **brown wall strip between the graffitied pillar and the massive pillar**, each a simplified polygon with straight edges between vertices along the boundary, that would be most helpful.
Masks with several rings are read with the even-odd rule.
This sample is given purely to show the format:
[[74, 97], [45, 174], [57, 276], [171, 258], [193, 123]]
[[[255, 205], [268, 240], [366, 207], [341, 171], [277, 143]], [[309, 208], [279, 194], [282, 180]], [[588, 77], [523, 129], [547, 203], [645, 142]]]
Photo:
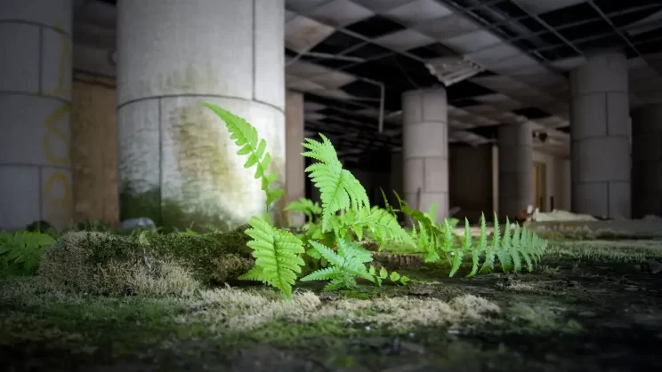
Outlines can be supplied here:
[[112, 79], [77, 73], [71, 99], [74, 221], [117, 226], [117, 99]]

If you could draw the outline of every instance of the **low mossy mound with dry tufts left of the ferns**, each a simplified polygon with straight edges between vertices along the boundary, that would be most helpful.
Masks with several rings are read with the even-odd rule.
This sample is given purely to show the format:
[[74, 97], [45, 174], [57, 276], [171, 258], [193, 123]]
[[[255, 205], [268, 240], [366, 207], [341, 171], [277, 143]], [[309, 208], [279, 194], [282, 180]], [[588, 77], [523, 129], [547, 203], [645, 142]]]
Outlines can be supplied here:
[[190, 294], [193, 281], [221, 283], [253, 265], [241, 226], [229, 233], [153, 234], [149, 245], [109, 233], [65, 233], [42, 257], [39, 275], [69, 289], [98, 294]]

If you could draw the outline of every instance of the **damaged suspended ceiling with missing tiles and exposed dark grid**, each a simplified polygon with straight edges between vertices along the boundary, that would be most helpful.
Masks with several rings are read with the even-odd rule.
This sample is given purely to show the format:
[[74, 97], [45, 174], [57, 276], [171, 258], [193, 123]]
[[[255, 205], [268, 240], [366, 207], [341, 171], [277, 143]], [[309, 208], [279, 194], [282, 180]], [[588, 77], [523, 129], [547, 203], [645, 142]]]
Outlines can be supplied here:
[[[483, 67], [447, 87], [451, 142], [488, 143], [499, 125], [530, 122], [547, 135], [535, 146], [567, 155], [568, 71], [595, 50], [626, 51], [632, 107], [662, 103], [660, 2], [286, 0], [286, 9], [287, 87], [305, 93], [309, 134], [327, 134], [350, 161], [398, 151], [400, 95], [440, 85], [425, 65], [441, 57]], [[109, 22], [79, 12], [77, 43], [86, 24]]]

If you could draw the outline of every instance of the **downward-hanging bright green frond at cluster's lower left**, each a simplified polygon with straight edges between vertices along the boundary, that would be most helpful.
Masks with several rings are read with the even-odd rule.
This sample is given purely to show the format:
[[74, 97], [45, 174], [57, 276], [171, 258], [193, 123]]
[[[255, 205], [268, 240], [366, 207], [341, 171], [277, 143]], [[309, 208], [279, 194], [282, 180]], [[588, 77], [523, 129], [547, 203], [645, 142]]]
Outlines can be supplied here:
[[253, 238], [246, 245], [253, 250], [254, 267], [241, 280], [262, 281], [280, 289], [284, 297], [292, 296], [296, 274], [305, 265], [299, 254], [304, 252], [303, 242], [293, 233], [271, 226], [268, 221], [254, 217], [249, 221], [251, 228], [246, 234]]

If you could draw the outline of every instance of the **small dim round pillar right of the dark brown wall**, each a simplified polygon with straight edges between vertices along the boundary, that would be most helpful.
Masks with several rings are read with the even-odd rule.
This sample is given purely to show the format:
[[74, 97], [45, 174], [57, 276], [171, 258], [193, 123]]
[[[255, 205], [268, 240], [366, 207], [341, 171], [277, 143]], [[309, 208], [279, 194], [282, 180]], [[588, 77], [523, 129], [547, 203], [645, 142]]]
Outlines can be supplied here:
[[498, 130], [498, 215], [514, 218], [531, 203], [533, 137], [530, 123], [508, 123]]

